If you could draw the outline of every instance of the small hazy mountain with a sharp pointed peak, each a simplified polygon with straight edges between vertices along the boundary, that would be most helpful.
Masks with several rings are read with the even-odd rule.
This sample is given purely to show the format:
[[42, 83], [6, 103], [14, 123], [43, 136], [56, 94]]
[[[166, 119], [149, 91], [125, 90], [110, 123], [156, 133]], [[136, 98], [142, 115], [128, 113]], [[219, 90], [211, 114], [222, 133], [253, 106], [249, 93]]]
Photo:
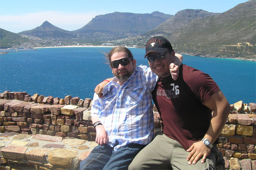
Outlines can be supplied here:
[[32, 30], [28, 30], [28, 31], [22, 31], [22, 32], [19, 32], [17, 34], [33, 36], [33, 37], [40, 37], [40, 38], [45, 38], [45, 37], [61, 37], [61, 38], [74, 37], [74, 34], [71, 31], [66, 31], [64, 29], [53, 26], [48, 21], [45, 21], [41, 26], [38, 26], [37, 28], [34, 28]]

